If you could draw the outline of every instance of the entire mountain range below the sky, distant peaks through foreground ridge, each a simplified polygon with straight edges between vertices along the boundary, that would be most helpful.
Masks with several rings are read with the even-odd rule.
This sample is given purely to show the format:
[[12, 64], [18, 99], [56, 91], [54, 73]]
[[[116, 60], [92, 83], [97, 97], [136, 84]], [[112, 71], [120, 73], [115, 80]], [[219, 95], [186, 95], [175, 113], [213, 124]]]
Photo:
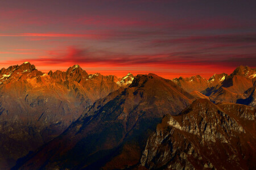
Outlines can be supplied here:
[[0, 70], [1, 169], [253, 169], [256, 69], [209, 80]]

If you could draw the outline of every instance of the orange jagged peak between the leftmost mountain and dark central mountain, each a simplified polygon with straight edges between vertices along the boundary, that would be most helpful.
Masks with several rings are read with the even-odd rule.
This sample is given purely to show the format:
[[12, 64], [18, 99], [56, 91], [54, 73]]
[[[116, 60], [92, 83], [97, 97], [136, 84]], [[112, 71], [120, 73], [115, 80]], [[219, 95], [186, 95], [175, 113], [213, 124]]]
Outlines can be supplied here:
[[87, 74], [79, 65], [69, 67], [66, 72], [57, 70], [52, 73], [50, 71], [48, 75], [69, 90], [75, 91], [81, 103], [86, 105], [92, 105], [97, 99], [105, 97], [121, 86], [117, 84], [116, 76], [104, 76], [99, 73]]

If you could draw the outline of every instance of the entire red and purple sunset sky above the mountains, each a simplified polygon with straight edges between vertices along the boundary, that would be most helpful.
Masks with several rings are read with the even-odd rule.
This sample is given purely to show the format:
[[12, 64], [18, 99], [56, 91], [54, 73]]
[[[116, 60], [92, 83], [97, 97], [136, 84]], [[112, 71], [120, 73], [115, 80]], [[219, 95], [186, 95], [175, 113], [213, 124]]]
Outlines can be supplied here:
[[155, 73], [164, 78], [256, 67], [255, 1], [1, 1], [0, 67]]

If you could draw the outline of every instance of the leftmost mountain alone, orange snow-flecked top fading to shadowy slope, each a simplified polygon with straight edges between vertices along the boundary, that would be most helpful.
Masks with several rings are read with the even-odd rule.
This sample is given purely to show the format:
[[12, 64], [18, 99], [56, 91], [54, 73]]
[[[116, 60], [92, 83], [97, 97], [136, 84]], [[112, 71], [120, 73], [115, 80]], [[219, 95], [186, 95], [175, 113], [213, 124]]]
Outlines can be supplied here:
[[2, 69], [0, 76], [0, 167], [4, 169], [62, 133], [86, 105], [77, 102], [74, 91], [28, 62]]

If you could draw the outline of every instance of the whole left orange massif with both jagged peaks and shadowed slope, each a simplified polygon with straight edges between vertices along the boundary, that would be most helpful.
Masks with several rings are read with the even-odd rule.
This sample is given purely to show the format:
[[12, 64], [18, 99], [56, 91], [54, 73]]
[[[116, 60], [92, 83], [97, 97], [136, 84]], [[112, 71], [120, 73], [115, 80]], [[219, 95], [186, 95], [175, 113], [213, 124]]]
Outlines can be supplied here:
[[61, 134], [86, 107], [120, 86], [75, 65], [43, 74], [25, 62], [0, 70], [0, 169]]

